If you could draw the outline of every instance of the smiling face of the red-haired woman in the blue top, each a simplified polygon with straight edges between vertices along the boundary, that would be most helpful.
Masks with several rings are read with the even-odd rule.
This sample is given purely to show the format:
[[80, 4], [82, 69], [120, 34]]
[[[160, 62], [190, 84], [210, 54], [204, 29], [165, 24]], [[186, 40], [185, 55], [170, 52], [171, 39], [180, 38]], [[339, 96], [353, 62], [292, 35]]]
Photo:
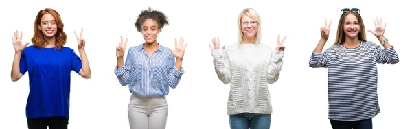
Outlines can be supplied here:
[[38, 29], [41, 30], [45, 37], [54, 38], [54, 35], [57, 33], [57, 24], [52, 14], [44, 14], [41, 17]]

